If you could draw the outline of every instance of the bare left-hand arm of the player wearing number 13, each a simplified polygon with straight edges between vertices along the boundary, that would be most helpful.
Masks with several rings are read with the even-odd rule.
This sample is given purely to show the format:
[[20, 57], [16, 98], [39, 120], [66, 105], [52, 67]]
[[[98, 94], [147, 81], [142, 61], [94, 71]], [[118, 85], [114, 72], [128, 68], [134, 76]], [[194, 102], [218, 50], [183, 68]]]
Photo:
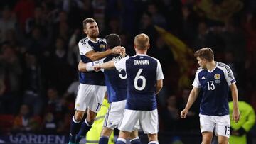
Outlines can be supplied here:
[[196, 101], [198, 94], [200, 92], [200, 89], [197, 87], [193, 87], [191, 90], [189, 97], [188, 97], [188, 102], [185, 106], [185, 109], [181, 111], [181, 118], [186, 118], [186, 115], [188, 114], [189, 109], [191, 108], [192, 104]]

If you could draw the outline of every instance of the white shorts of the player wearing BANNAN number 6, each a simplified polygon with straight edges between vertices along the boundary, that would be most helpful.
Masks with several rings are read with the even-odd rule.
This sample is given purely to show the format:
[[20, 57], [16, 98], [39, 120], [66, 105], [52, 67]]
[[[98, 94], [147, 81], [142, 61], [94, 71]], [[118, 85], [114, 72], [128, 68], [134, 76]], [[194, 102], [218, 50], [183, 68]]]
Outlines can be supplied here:
[[124, 116], [118, 129], [132, 132], [135, 124], [139, 121], [145, 134], [155, 134], [159, 131], [159, 119], [157, 109], [153, 111], [135, 111], [124, 109]]

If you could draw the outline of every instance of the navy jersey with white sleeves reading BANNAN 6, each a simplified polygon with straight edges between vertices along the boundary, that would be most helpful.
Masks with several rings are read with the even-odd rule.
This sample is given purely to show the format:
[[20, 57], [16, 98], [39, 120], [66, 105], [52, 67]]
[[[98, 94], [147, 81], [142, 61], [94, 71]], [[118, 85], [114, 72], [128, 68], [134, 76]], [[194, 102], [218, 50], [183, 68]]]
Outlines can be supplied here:
[[125, 109], [156, 109], [156, 80], [164, 79], [159, 60], [148, 55], [125, 57], [114, 63], [117, 70], [127, 72], [127, 104]]

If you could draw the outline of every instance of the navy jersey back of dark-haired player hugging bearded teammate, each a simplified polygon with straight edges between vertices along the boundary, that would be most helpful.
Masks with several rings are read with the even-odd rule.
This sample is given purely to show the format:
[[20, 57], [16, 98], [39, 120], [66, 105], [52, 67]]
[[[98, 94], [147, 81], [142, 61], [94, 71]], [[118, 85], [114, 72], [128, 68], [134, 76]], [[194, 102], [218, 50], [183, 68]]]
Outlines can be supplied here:
[[[122, 59], [121, 55], [107, 56], [104, 62], [110, 60], [119, 61]], [[104, 70], [105, 83], [107, 86], [109, 103], [122, 101], [127, 98], [127, 74], [124, 70]]]

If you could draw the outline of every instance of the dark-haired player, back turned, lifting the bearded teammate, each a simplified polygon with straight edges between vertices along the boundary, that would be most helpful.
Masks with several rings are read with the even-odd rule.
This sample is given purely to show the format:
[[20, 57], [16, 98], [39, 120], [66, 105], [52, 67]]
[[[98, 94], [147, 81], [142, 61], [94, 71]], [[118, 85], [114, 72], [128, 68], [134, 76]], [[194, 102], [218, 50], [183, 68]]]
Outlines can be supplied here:
[[[106, 36], [107, 49], [112, 49], [116, 46], [121, 45], [121, 39], [117, 34], [110, 34]], [[125, 53], [123, 53], [125, 54]], [[102, 62], [108, 62], [114, 60], [118, 62], [125, 55], [109, 55], [101, 60]], [[87, 64], [80, 62], [78, 69], [82, 72], [94, 70], [92, 65], [97, 65], [95, 62], [89, 62]], [[102, 69], [103, 70], [103, 69]], [[114, 130], [119, 126], [124, 113], [124, 107], [127, 98], [127, 74], [124, 70], [103, 70], [105, 74], [105, 83], [107, 86], [108, 102], [110, 103], [109, 111], [105, 116], [105, 122], [102, 128], [102, 134], [100, 137], [99, 144], [107, 144], [109, 137]], [[138, 137], [139, 123], [130, 135], [130, 141], [132, 144], [140, 144]]]

